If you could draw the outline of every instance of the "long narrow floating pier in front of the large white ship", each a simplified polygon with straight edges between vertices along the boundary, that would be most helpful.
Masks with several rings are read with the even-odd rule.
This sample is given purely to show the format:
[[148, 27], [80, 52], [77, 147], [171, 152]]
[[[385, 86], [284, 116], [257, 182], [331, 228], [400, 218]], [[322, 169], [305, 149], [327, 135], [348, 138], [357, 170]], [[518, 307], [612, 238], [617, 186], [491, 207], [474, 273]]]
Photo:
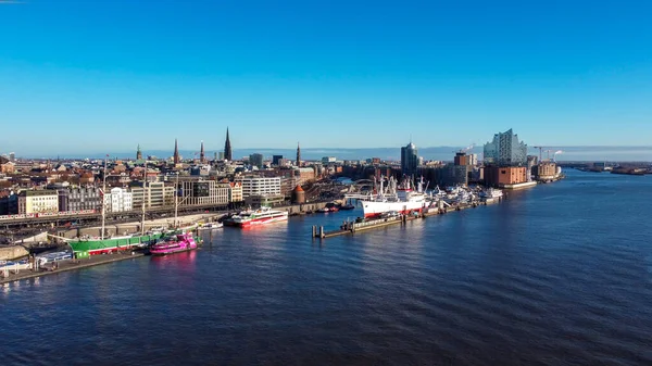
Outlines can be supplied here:
[[391, 226], [391, 225], [406, 224], [408, 222], [419, 219], [419, 218], [423, 219], [423, 218], [426, 218], [429, 216], [443, 215], [443, 214], [447, 214], [450, 212], [457, 212], [457, 211], [463, 211], [463, 210], [467, 210], [467, 209], [475, 209], [480, 205], [494, 204], [500, 201], [501, 201], [501, 199], [487, 199], [481, 202], [465, 203], [465, 204], [459, 204], [459, 205], [449, 206], [449, 207], [430, 207], [430, 209], [425, 210], [424, 212], [419, 213], [418, 215], [412, 215], [412, 216], [400, 215], [400, 216], [392, 216], [392, 217], [387, 217], [387, 218], [376, 218], [376, 219], [364, 220], [364, 222], [344, 222], [338, 229], [334, 229], [334, 230], [325, 230], [324, 226], [315, 225], [312, 227], [312, 237], [319, 238], [319, 239], [327, 239], [327, 238], [333, 238], [333, 237], [339, 237], [342, 235], [353, 235], [359, 231], [377, 229], [377, 228]]

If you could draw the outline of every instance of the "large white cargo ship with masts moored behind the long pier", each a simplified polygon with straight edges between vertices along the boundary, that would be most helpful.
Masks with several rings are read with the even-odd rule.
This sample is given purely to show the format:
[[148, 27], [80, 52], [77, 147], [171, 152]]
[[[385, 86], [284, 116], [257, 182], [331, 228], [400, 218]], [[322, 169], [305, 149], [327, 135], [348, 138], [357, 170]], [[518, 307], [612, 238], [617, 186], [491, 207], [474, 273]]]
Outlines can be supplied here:
[[375, 190], [375, 195], [362, 199], [362, 209], [364, 217], [376, 217], [388, 212], [398, 212], [400, 214], [421, 213], [430, 205], [430, 199], [423, 189], [423, 178], [414, 190], [410, 180], [404, 180], [397, 187], [394, 178], [388, 179], [387, 187], [384, 186], [385, 179], [380, 177], [380, 188]]

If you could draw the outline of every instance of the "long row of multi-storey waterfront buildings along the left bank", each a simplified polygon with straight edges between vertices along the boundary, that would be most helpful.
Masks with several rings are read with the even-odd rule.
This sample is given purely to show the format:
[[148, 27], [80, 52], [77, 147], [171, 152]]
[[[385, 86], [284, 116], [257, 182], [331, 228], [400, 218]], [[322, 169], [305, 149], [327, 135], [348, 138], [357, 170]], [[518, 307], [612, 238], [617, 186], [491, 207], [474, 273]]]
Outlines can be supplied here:
[[[306, 173], [303, 173], [306, 174]], [[45, 189], [24, 189], [0, 198], [0, 215], [100, 211], [128, 212], [179, 206], [276, 205], [288, 201], [297, 186], [310, 177], [289, 174], [278, 176], [237, 176], [234, 181], [218, 181], [184, 176], [178, 179], [141, 181], [131, 187], [114, 187], [103, 194], [99, 187], [50, 185]]]

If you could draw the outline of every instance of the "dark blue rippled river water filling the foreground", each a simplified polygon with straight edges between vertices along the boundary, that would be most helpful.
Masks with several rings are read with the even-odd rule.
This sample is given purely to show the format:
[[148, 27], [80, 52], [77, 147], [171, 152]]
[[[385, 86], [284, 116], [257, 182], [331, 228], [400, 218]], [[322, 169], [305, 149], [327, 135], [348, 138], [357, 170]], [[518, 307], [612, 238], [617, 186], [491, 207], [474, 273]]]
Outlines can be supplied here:
[[650, 365], [652, 177], [569, 172], [313, 241], [347, 215], [0, 292], [0, 365]]

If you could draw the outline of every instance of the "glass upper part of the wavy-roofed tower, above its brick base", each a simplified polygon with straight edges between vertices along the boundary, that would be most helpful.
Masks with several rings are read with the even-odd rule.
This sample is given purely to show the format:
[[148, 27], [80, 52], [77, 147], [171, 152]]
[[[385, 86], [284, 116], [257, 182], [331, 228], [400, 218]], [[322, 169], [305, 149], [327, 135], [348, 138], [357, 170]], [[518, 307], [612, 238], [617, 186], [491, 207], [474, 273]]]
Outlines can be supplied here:
[[525, 165], [527, 144], [518, 141], [512, 129], [493, 135], [491, 142], [485, 143], [485, 164], [500, 166]]

